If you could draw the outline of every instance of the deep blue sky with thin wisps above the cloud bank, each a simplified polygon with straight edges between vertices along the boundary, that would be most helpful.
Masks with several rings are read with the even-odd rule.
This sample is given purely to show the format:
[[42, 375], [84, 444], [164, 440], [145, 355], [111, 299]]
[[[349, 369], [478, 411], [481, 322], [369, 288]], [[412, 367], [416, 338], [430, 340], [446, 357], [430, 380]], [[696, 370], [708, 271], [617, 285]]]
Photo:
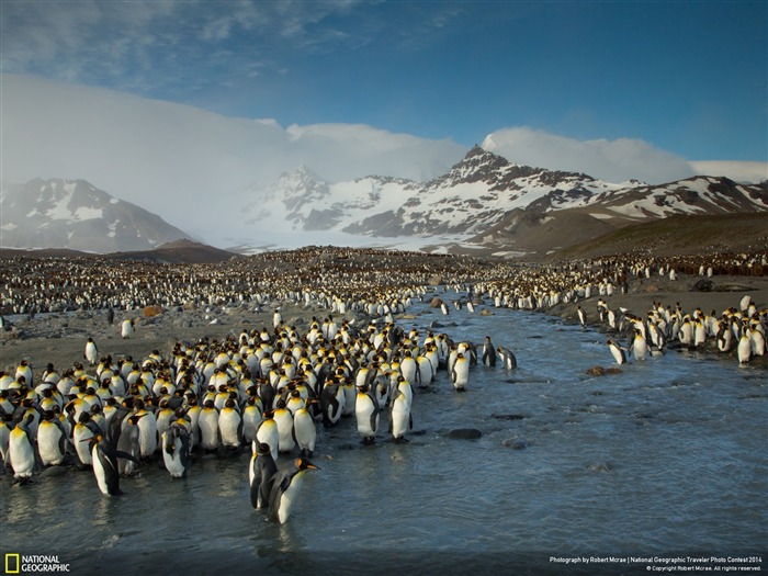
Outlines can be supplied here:
[[[506, 127], [768, 160], [768, 3], [2, 3], [2, 72], [470, 147]], [[8, 113], [7, 111], [4, 113]]]

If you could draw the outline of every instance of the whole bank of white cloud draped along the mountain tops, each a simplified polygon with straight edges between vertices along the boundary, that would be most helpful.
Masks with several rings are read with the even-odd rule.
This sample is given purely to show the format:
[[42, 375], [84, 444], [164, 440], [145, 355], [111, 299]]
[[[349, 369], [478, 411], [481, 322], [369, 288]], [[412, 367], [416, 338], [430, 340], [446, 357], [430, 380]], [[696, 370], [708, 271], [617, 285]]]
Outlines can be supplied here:
[[[357, 124], [282, 127], [82, 84], [2, 75], [2, 178], [86, 179], [212, 241], [255, 190], [306, 166], [327, 182], [370, 174], [426, 181], [466, 154], [452, 140]], [[482, 140], [483, 135], [478, 135]], [[607, 181], [669, 182], [698, 165], [636, 139], [579, 142], [529, 127], [500, 128], [483, 147], [521, 165]], [[764, 162], [748, 162], [765, 174]], [[722, 168], [722, 166], [721, 166]], [[733, 166], [730, 166], [732, 169]], [[720, 174], [712, 174], [720, 176]], [[734, 176], [730, 176], [734, 178]], [[738, 179], [738, 178], [735, 178]]]

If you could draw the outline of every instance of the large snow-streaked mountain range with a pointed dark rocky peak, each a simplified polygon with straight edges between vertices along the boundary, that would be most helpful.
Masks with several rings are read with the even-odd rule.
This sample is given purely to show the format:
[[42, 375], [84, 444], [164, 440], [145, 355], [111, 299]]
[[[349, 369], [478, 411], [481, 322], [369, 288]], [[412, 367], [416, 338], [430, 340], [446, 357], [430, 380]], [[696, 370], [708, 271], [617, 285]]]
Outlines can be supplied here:
[[[509, 162], [475, 146], [428, 182], [368, 177], [330, 184], [306, 168], [285, 173], [245, 208], [249, 224], [289, 223], [294, 231], [335, 230], [374, 237], [459, 235], [500, 241], [510, 229], [533, 234], [557, 214], [578, 212], [578, 234], [564, 242], [673, 214], [768, 210], [768, 189], [694, 177], [664, 185], [610, 183], [584, 173]], [[264, 200], [264, 197], [267, 200]], [[546, 217], [545, 217], [546, 215]], [[576, 216], [569, 216], [572, 219]], [[549, 218], [549, 219], [547, 219]], [[562, 235], [550, 225], [552, 235]], [[538, 229], [537, 234], [542, 235]], [[544, 242], [546, 244], [546, 242]]]

